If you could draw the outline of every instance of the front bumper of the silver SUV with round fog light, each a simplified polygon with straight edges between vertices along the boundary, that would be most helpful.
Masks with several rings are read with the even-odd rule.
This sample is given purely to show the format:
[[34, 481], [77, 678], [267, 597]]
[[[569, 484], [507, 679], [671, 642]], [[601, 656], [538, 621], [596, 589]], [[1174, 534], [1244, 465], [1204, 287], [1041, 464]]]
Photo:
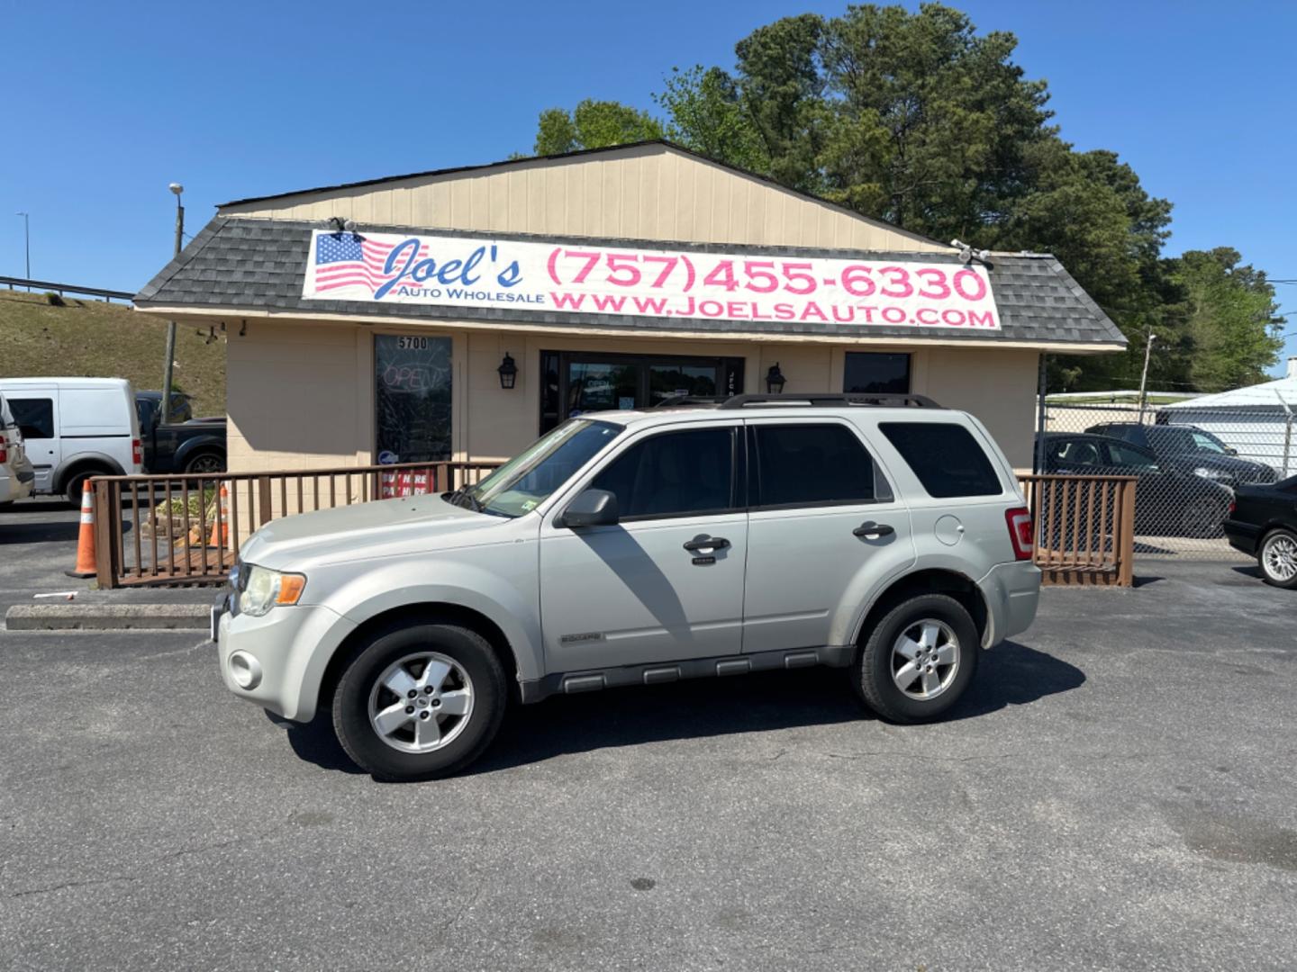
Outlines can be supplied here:
[[[285, 719], [315, 717], [320, 682], [333, 651], [355, 625], [323, 605], [271, 608], [262, 617], [233, 614], [230, 597], [211, 609], [211, 636], [226, 688]], [[241, 677], [250, 684], [240, 684]]]

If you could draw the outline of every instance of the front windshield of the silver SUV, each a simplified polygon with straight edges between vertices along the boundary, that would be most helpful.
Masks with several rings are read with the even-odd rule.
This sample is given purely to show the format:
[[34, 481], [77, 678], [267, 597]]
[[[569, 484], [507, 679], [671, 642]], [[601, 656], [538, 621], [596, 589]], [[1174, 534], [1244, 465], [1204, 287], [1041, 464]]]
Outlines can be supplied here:
[[612, 422], [569, 419], [466, 492], [485, 513], [530, 513], [621, 430]]

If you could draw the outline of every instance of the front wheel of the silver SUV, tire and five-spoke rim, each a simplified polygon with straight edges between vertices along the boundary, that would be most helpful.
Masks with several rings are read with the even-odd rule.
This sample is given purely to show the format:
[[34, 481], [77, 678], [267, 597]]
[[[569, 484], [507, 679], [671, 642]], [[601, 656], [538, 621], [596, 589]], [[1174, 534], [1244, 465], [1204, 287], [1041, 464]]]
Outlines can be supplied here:
[[449, 776], [490, 744], [507, 700], [505, 670], [476, 631], [412, 622], [359, 648], [333, 693], [333, 728], [379, 779]]

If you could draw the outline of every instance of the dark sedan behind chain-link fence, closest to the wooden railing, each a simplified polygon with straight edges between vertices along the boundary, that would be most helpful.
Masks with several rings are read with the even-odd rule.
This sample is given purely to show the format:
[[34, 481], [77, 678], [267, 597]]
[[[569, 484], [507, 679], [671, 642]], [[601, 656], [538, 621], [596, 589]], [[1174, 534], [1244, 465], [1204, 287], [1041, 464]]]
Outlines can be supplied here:
[[[1156, 537], [1219, 537], [1233, 492], [1179, 467], [1162, 465], [1152, 450], [1089, 433], [1048, 432], [1044, 472], [1134, 476], [1135, 531]], [[1044, 520], [1041, 515], [1041, 520]]]

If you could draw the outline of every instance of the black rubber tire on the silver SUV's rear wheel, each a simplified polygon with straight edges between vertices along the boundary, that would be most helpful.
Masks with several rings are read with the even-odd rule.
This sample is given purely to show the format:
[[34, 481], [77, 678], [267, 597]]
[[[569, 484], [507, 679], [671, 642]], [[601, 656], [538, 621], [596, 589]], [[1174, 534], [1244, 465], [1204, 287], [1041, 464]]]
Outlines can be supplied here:
[[[953, 666], [934, 662], [934, 674], [943, 687], [931, 699], [917, 699], [901, 691], [892, 678], [892, 648], [903, 634], [925, 621], [940, 622], [953, 635], [956, 662]], [[888, 610], [868, 632], [851, 669], [852, 683], [861, 701], [888, 722], [927, 722], [955, 705], [973, 682], [981, 640], [973, 618], [953, 597], [944, 594], [910, 597]], [[920, 688], [922, 678], [914, 683]]]

